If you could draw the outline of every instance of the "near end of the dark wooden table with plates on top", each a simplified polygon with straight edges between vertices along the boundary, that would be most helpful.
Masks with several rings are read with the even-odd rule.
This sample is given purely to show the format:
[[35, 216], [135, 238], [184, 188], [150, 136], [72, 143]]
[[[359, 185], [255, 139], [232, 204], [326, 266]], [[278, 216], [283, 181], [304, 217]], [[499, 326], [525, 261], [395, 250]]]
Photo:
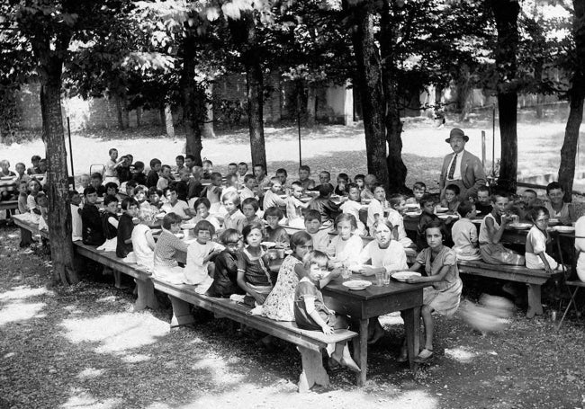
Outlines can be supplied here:
[[[353, 278], [373, 281], [373, 277], [353, 275]], [[359, 338], [354, 340], [354, 359], [362, 369], [357, 375], [357, 385], [363, 386], [367, 377], [367, 337], [370, 318], [401, 311], [404, 318], [409, 351], [410, 369], [414, 369], [414, 358], [419, 355], [420, 307], [422, 289], [427, 283], [407, 284], [391, 281], [389, 286], [372, 285], [367, 289], [352, 290], [343, 285], [338, 278], [322, 289], [325, 303], [340, 314], [351, 316], [359, 322]]]

